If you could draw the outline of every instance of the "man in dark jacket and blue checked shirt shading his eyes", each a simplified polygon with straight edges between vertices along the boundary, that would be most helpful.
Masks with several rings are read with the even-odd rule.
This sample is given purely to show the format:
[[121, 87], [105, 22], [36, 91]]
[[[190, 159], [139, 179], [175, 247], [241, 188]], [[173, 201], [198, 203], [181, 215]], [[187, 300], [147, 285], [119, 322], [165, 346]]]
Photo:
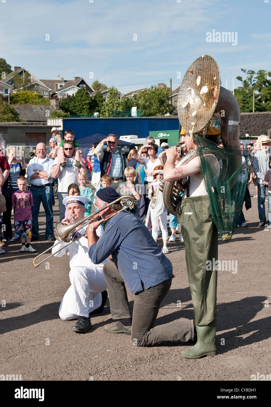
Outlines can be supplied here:
[[[108, 148], [103, 151], [103, 145], [107, 143]], [[101, 177], [105, 174], [112, 178], [111, 187], [119, 190], [120, 184], [124, 182], [124, 170], [127, 167], [125, 153], [117, 149], [118, 138], [115, 134], [109, 134], [95, 148], [94, 155], [101, 164]]]

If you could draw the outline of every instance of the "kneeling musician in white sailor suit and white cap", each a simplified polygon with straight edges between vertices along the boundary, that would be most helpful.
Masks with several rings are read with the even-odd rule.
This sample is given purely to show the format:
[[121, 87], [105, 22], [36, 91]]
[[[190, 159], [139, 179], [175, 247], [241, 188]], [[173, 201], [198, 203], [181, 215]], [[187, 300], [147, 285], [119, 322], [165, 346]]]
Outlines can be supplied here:
[[[69, 219], [63, 219], [65, 225], [75, 223], [80, 219], [84, 219], [86, 211], [85, 204], [88, 203], [88, 198], [83, 196], [69, 196], [63, 199], [63, 205], [67, 205]], [[99, 228], [98, 234], [103, 232], [102, 227]], [[105, 302], [108, 298], [106, 291], [106, 281], [103, 275], [103, 265], [109, 261], [105, 258], [103, 262], [94, 265], [88, 257], [88, 241], [84, 237], [85, 228], [82, 228], [82, 237], [77, 241], [65, 247], [67, 243], [61, 241], [63, 249], [56, 253], [59, 246], [54, 245], [52, 254], [56, 257], [62, 257], [69, 252], [70, 268], [69, 278], [71, 286], [65, 293], [64, 298], [59, 307], [59, 316], [64, 321], [77, 319], [71, 330], [77, 333], [86, 332], [91, 327], [90, 313], [101, 313]], [[72, 239], [77, 237], [74, 232]]]

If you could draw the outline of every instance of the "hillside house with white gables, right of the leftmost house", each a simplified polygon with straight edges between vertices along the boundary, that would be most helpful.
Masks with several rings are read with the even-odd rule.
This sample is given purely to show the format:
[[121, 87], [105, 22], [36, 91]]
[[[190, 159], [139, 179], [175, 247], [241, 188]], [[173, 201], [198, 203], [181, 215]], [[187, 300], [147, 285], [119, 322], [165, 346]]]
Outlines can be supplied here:
[[45, 85], [51, 88], [51, 97], [57, 96], [60, 98], [67, 98], [67, 96], [74, 95], [78, 89], [85, 88], [89, 93], [93, 93], [94, 89], [87, 83], [84, 78], [74, 77], [73, 80], [64, 80], [60, 78], [58, 80], [42, 79]]

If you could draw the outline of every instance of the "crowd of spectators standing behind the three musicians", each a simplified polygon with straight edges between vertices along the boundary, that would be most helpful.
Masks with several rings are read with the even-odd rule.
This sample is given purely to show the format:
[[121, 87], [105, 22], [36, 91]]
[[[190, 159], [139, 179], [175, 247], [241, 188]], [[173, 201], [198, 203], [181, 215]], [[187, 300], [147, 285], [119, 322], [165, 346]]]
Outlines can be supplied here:
[[[259, 227], [268, 225], [268, 228], [271, 228], [270, 139], [266, 137], [261, 141], [261, 148], [253, 154], [253, 144], [247, 145], [247, 151], [241, 144], [242, 155], [251, 154], [249, 178], [244, 182], [247, 182], [247, 188], [252, 182], [256, 187], [254, 197], [258, 198]], [[169, 241], [176, 241], [178, 231], [179, 240], [183, 241], [180, 225], [177, 224], [176, 217], [166, 210], [162, 193], [159, 191], [159, 183], [163, 179], [162, 156], [169, 148], [168, 143], [162, 143], [160, 147], [155, 144], [152, 137], [147, 137], [146, 144], [139, 149], [131, 149], [126, 157], [125, 153], [118, 149], [118, 137], [109, 134], [101, 142], [92, 144], [85, 159], [72, 130], [66, 130], [62, 140], [57, 129], [53, 128], [49, 146], [50, 149], [47, 151], [44, 143], [38, 143], [35, 152], [29, 154], [29, 162], [26, 162], [24, 157], [16, 155], [15, 146], [10, 146], [6, 150], [6, 156], [0, 157], [0, 193], [2, 194], [0, 254], [4, 254], [4, 242], [12, 242], [14, 239], [20, 239], [22, 242], [20, 252], [35, 251], [30, 242], [41, 239], [39, 234], [41, 203], [46, 217], [45, 239], [53, 241], [55, 200], [58, 199], [60, 221], [68, 216], [63, 199], [71, 195], [87, 198], [84, 213], [84, 216], [87, 216], [91, 213], [92, 202], [96, 208], [97, 191], [108, 186], [114, 188], [120, 195], [133, 197], [134, 203], [129, 211], [145, 221], [155, 241], [158, 234], [162, 235], [163, 253], [169, 252], [168, 221], [171, 230]], [[87, 186], [89, 171], [92, 187]], [[95, 194], [92, 194], [92, 188], [96, 190]], [[267, 217], [266, 196], [268, 197]], [[249, 193], [248, 197], [250, 199]], [[126, 199], [123, 204], [127, 202]], [[12, 211], [14, 228], [11, 222]], [[242, 210], [237, 227], [247, 227]]]

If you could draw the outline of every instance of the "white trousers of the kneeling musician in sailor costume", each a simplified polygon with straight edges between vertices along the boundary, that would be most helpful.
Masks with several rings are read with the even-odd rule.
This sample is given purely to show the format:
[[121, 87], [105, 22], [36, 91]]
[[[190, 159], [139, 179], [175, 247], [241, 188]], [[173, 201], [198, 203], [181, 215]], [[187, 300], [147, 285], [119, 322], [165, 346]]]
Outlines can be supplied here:
[[88, 314], [101, 305], [101, 291], [107, 289], [101, 267], [73, 267], [69, 274], [71, 287], [59, 307], [59, 316], [65, 321]]

